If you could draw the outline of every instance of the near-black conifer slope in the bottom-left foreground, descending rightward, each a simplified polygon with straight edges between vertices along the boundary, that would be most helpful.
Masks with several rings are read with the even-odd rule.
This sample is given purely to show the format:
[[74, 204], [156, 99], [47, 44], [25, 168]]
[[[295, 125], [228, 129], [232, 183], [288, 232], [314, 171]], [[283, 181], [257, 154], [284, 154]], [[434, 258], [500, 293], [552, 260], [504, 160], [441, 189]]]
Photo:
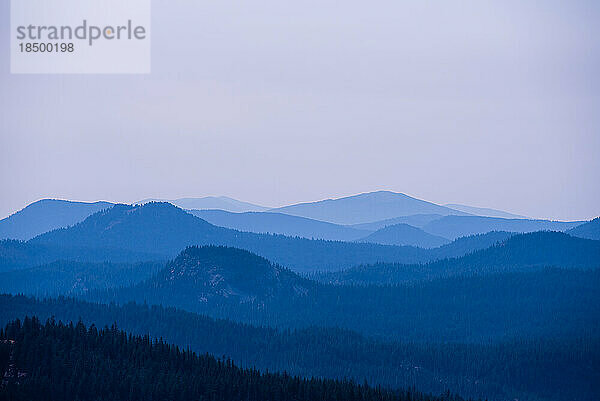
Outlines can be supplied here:
[[[335, 380], [240, 369], [229, 360], [79, 322], [15, 321], [0, 332], [0, 400], [426, 401]], [[458, 400], [458, 398], [452, 397]]]

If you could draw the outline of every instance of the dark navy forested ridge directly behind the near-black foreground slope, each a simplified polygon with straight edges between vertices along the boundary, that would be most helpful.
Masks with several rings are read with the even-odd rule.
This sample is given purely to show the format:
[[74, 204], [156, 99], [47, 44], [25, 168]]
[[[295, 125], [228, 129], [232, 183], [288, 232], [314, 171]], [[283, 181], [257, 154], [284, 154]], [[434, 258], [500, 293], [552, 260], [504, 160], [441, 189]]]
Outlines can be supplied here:
[[[43, 301], [0, 296], [0, 325], [25, 316], [117, 323], [137, 335], [162, 337], [181, 348], [224, 355], [246, 367], [304, 377], [365, 380], [373, 386], [450, 389], [479, 399], [594, 400], [598, 338], [509, 340], [488, 345], [380, 342], [339, 329], [278, 331], [214, 320], [159, 306], [99, 305], [74, 299]], [[340, 355], [343, 355], [340, 358]], [[499, 365], [503, 369], [497, 369]]]

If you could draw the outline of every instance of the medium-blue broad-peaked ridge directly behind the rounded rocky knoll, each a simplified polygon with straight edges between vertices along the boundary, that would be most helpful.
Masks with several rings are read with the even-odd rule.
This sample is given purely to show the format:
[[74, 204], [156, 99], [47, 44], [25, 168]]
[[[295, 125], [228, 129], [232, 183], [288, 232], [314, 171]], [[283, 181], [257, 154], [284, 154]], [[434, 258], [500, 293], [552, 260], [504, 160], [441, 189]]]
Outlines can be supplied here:
[[109, 248], [174, 257], [190, 245], [246, 249], [296, 271], [339, 269], [379, 261], [417, 263], [428, 258], [414, 247], [309, 240], [255, 234], [214, 226], [169, 203], [115, 205], [66, 229], [42, 234], [30, 244], [62, 248]]

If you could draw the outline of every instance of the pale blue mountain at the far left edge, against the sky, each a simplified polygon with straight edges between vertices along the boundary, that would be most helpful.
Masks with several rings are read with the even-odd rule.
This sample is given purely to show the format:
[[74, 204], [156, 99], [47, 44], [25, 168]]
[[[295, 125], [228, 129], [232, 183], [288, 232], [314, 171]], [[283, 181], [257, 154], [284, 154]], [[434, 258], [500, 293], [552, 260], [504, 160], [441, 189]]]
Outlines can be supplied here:
[[109, 202], [42, 199], [0, 220], [0, 239], [28, 240], [56, 228], [77, 224], [112, 205]]

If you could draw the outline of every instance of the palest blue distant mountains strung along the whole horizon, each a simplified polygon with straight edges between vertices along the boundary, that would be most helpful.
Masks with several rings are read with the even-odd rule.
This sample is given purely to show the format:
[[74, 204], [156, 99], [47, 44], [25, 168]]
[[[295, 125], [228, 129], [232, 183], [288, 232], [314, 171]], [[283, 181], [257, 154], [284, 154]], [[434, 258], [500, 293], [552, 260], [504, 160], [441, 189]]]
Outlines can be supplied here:
[[[145, 200], [138, 204], [149, 203]], [[440, 206], [389, 191], [365, 193], [340, 199], [303, 203], [276, 209], [241, 202], [228, 197], [181, 198], [169, 201], [188, 209], [211, 224], [244, 232], [282, 234], [334, 241], [360, 241], [390, 245], [435, 247], [448, 241], [490, 231], [566, 231], [584, 222], [560, 222], [515, 216], [495, 209], [464, 205]], [[28, 240], [39, 234], [75, 225], [91, 214], [112, 207], [109, 202], [74, 202], [45, 199], [0, 220], [0, 239]], [[454, 206], [455, 210], [448, 206]], [[481, 215], [472, 215], [478, 213]], [[356, 223], [359, 222], [359, 223]], [[419, 230], [403, 227], [409, 225]], [[581, 235], [598, 238], [597, 229]], [[385, 230], [382, 230], [385, 229]], [[382, 230], [376, 235], [375, 231]], [[394, 234], [392, 234], [394, 232]], [[572, 231], [577, 235], [578, 231]], [[596, 233], [596, 234], [594, 234]], [[595, 235], [595, 236], [594, 236]], [[438, 237], [433, 240], [431, 236]], [[445, 241], [442, 241], [444, 239]]]

